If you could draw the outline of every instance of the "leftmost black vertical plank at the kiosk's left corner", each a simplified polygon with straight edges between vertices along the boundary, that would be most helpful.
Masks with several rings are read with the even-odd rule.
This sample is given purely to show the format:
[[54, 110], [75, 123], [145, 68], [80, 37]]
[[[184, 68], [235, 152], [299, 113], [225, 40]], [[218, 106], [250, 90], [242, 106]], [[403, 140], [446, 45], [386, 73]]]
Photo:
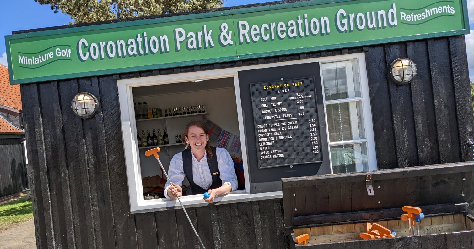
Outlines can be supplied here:
[[[47, 248], [51, 241], [51, 217], [47, 217], [45, 210], [48, 200], [43, 199], [45, 190], [41, 184], [39, 167], [41, 140], [36, 138], [36, 129], [41, 129], [41, 113], [39, 111], [39, 100], [36, 84], [22, 84], [21, 99], [23, 102], [23, 115], [25, 123], [25, 137], [27, 141], [28, 161], [30, 162], [29, 185], [32, 191], [33, 215], [35, 218], [36, 247]], [[38, 148], [39, 147], [39, 148]], [[46, 203], [45, 203], [46, 202]], [[45, 209], [46, 206], [46, 209]], [[48, 223], [49, 222], [49, 223]]]

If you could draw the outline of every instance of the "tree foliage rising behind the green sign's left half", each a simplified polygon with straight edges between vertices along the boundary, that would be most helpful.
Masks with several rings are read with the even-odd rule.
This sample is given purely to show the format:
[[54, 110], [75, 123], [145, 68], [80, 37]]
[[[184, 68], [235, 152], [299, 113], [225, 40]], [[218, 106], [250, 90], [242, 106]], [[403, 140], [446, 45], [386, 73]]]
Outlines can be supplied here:
[[162, 15], [224, 6], [224, 0], [35, 0], [71, 16], [70, 24]]

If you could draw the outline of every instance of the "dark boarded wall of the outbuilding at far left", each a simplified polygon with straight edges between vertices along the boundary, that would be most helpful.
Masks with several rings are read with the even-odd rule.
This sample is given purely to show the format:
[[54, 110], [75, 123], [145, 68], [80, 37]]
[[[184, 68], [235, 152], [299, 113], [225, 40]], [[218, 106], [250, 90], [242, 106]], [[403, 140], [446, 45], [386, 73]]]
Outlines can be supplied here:
[[23, 135], [0, 134], [0, 197], [27, 188]]

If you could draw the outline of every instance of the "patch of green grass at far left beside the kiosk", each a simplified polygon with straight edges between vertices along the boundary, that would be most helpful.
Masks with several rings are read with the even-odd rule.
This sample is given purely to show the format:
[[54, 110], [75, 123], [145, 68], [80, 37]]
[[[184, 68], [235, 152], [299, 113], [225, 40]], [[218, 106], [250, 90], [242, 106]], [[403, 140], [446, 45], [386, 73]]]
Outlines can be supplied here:
[[31, 200], [20, 198], [0, 205], [0, 230], [10, 225], [33, 219]]

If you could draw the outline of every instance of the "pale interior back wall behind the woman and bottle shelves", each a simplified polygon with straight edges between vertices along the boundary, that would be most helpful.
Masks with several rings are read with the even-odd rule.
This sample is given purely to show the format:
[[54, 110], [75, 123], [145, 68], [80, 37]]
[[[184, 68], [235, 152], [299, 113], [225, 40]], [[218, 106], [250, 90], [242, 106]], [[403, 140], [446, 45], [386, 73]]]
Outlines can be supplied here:
[[[168, 85], [169, 86], [169, 85]], [[177, 93], [159, 95], [158, 92], [150, 92], [149, 96], [140, 96], [135, 97], [134, 102], [147, 102], [149, 108], [173, 108], [179, 106], [190, 106], [204, 104], [206, 106], [205, 111], [209, 113], [205, 117], [220, 128], [231, 132], [232, 134], [239, 135], [238, 129], [238, 119], [237, 119], [237, 104], [235, 101], [235, 91], [233, 87], [221, 88], [221, 89], [211, 89], [211, 90], [202, 90], [202, 91], [193, 91], [193, 92], [183, 92], [185, 89], [176, 89]], [[201, 116], [191, 116], [183, 118], [174, 118], [168, 119], [167, 122], [167, 132], [169, 136], [170, 144], [176, 143], [174, 135], [182, 134], [182, 131], [186, 124], [191, 120], [202, 120]], [[137, 130], [140, 133], [141, 131], [150, 129], [150, 135], [153, 136], [153, 129], [160, 129], [161, 134], [163, 135], [164, 129], [164, 120], [146, 120], [137, 122]], [[230, 141], [229, 141], [230, 142]], [[215, 146], [216, 141], [211, 141], [211, 145]], [[184, 149], [183, 145], [170, 146], [169, 156], [166, 154], [165, 148], [162, 147], [162, 152], [160, 152], [160, 160], [167, 170], [170, 160], [173, 155], [179, 153]], [[141, 169], [141, 177], [160, 175], [161, 170], [160, 166], [156, 162], [154, 157], [146, 157], [146, 149], [139, 149], [139, 162]], [[237, 157], [241, 156], [241, 152], [231, 153]], [[185, 183], [187, 181], [185, 180]]]

